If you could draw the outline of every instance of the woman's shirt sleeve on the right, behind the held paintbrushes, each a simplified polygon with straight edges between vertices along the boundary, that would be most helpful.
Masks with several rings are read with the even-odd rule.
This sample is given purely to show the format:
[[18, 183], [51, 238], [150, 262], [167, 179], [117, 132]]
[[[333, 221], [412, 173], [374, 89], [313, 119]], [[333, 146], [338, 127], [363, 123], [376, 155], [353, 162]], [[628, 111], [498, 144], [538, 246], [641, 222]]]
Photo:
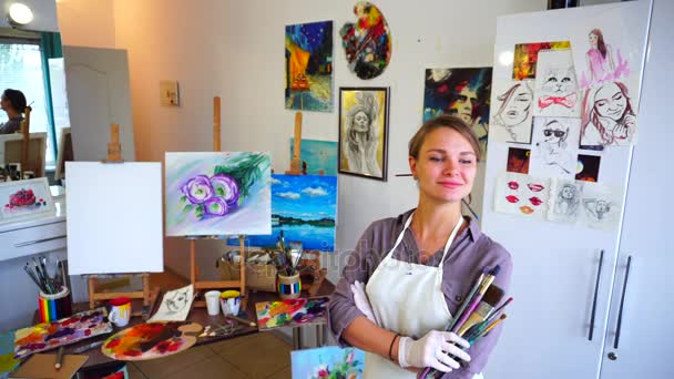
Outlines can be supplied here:
[[[510, 277], [512, 275], [512, 258], [510, 254], [499, 244], [493, 243], [491, 246], [490, 255], [493, 255], [496, 259], [493, 260], [493, 265], [501, 266], [501, 272], [494, 278], [492, 285], [498, 286], [503, 289], [503, 300], [508, 298], [508, 288], [510, 287]], [[487, 336], [478, 339], [469, 349], [468, 354], [470, 355], [470, 362], [464, 363], [463, 367], [459, 370], [450, 371], [442, 376], [442, 379], [472, 379], [473, 375], [482, 372], [484, 367], [487, 366], [487, 361], [489, 355], [497, 345], [497, 340], [501, 335], [501, 329], [503, 327], [503, 322], [501, 325], [493, 328]]]

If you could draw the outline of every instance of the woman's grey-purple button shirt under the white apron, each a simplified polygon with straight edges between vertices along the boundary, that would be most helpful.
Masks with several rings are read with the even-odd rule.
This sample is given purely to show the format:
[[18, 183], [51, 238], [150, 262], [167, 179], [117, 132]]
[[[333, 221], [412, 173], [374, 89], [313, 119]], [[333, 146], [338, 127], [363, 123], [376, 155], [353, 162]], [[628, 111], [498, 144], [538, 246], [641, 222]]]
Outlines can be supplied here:
[[[362, 234], [356, 249], [347, 259], [343, 277], [330, 298], [329, 328], [341, 346], [347, 346], [341, 335], [351, 321], [362, 316], [354, 303], [354, 295], [349, 286], [356, 281], [367, 284], [381, 259], [394, 247], [396, 238], [402, 232], [405, 222], [413, 209], [408, 211], [395, 218], [385, 218], [372, 223]], [[394, 258], [398, 260], [420, 264], [419, 248], [412, 232], [405, 232], [402, 242], [394, 252]], [[442, 259], [442, 249], [436, 252], [426, 263], [428, 266], [438, 266]], [[478, 224], [469, 219], [469, 226], [463, 229], [452, 242], [450, 250], [443, 263], [442, 293], [447, 301], [447, 308], [456, 315], [468, 295], [472, 285], [482, 273], [484, 267], [492, 268], [501, 266], [501, 272], [493, 284], [508, 294], [510, 276], [512, 274], [512, 258], [510, 254], [498, 243], [482, 234]], [[430, 290], [430, 288], [429, 288]], [[503, 300], [507, 295], [503, 296]], [[394, 330], [395, 331], [395, 330]], [[501, 334], [501, 326], [496, 327], [489, 335], [480, 338], [469, 349], [471, 361], [461, 369], [446, 373], [443, 379], [470, 379], [474, 373], [482, 372], [487, 365], [489, 354], [496, 346]]]

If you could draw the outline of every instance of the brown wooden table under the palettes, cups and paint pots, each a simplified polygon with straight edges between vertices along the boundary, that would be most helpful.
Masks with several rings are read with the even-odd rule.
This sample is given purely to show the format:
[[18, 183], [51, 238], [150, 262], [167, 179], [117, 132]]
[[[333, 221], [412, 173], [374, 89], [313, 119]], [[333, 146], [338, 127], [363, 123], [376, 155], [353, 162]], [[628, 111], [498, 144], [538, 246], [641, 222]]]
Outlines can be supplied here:
[[[316, 296], [329, 296], [330, 294], [333, 294], [333, 291], [335, 291], [335, 285], [333, 283], [330, 283], [329, 280], [325, 279], [325, 280], [323, 280], [323, 284], [320, 285], [320, 288], [318, 289], [318, 293], [316, 294]], [[306, 291], [303, 291], [302, 295], [303, 295], [303, 297], [309, 297], [309, 295]], [[163, 294], [160, 294], [160, 296], [163, 296]], [[274, 300], [279, 300], [279, 299], [280, 298], [278, 297], [278, 294], [265, 293], [265, 291], [249, 291], [248, 301], [247, 301], [246, 309], [245, 309], [245, 316], [243, 314], [239, 314], [239, 316], [257, 322], [257, 317], [256, 317], [256, 313], [255, 313], [255, 304], [261, 303], [261, 301], [274, 301]], [[134, 301], [139, 301], [139, 300], [134, 300]], [[161, 303], [161, 297], [160, 297], [160, 299], [157, 299], [157, 306], [160, 303]], [[140, 300], [137, 303], [139, 308], [133, 308], [133, 309], [134, 310], [140, 309], [141, 305], [142, 305], [142, 300]], [[132, 304], [132, 307], [133, 306], [136, 306], [136, 304], [135, 303]], [[82, 311], [82, 310], [86, 310], [86, 309], [89, 309], [89, 303], [73, 304], [73, 313], [78, 313], [78, 311]], [[35, 313], [34, 324], [38, 324], [37, 317], [38, 316]], [[190, 311], [190, 316], [187, 317], [187, 321], [197, 322], [197, 324], [202, 325], [203, 327], [205, 327], [206, 325], [224, 324], [225, 317], [222, 314], [218, 316], [208, 316], [206, 308], [193, 307], [192, 310]], [[123, 328], [118, 328], [118, 327], [114, 327], [114, 325], [113, 325], [112, 334], [92, 337], [92, 338], [79, 341], [76, 344], [68, 345], [64, 349], [64, 354], [73, 354], [72, 351], [79, 347], [86, 346], [86, 345], [90, 345], [95, 341], [105, 340], [110, 336], [116, 334], [118, 331], [120, 331], [122, 329], [126, 329], [130, 326], [133, 326], [136, 324], [142, 324], [142, 322], [143, 322], [143, 319], [141, 317], [133, 317], [129, 321], [129, 325]], [[319, 346], [323, 345], [325, 325], [324, 324], [318, 324], [318, 325], [314, 324], [312, 326], [317, 327], [318, 345]], [[226, 339], [243, 337], [243, 336], [258, 332], [257, 327], [249, 327], [249, 326], [246, 327], [244, 325], [241, 325], [241, 327], [242, 328], [239, 330], [235, 331], [232, 335], [227, 335], [227, 336], [200, 337], [200, 338], [197, 338], [196, 344], [194, 346], [214, 344], [214, 342], [223, 341]], [[293, 345], [294, 345], [295, 349], [302, 348], [302, 328], [293, 328]], [[105, 368], [108, 366], [114, 366], [120, 362], [118, 360], [111, 359], [108, 356], [103, 355], [103, 352], [101, 352], [100, 346], [92, 348], [82, 354], [89, 356], [86, 363], [84, 363], [84, 366], [82, 367], [82, 369], [86, 369], [86, 370]]]

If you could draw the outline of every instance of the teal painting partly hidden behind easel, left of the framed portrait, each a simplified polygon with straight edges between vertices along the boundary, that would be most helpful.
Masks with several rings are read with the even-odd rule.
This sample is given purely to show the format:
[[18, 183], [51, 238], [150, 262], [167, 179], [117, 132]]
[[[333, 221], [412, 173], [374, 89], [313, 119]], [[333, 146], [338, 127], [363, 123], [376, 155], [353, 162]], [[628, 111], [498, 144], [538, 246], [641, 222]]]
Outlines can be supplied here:
[[[293, 144], [290, 139], [290, 156]], [[305, 175], [337, 175], [337, 142], [302, 139], [300, 148], [302, 171]]]

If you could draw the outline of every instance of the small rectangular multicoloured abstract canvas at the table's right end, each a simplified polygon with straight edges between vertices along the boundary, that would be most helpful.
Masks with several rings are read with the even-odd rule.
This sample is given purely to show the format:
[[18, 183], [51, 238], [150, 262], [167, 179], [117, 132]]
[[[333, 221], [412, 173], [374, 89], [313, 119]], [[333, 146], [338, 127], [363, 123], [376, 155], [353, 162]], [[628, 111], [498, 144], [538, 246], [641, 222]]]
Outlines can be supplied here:
[[330, 298], [309, 297], [255, 304], [259, 330], [325, 322]]

